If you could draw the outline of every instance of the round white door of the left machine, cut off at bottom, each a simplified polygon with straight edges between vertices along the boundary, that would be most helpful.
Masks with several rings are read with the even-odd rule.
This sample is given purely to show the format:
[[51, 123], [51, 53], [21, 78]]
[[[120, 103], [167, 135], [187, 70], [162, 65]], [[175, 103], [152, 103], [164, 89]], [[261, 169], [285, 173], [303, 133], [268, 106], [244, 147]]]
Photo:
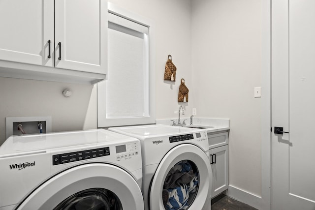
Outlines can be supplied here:
[[[75, 202], [80, 207], [72, 208]], [[100, 208], [95, 207], [96, 203]], [[110, 164], [88, 163], [65, 170], [43, 182], [17, 210], [80, 208], [143, 210], [144, 206], [141, 189], [129, 173]]]

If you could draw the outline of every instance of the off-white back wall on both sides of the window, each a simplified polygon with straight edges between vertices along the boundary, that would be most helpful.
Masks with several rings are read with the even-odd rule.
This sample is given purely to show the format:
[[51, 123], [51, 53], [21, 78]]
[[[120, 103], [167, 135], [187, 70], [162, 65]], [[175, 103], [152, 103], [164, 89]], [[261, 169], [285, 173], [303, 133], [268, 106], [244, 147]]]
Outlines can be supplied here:
[[[191, 78], [190, 0], [111, 0], [155, 23], [156, 116], [176, 118], [179, 105], [191, 115], [194, 95]], [[172, 55], [176, 83], [163, 81], [165, 63]], [[189, 88], [189, 102], [178, 103], [180, 79]], [[65, 98], [69, 88], [73, 95]], [[5, 141], [5, 117], [51, 116], [52, 131], [96, 128], [96, 86], [0, 78], [0, 145]]]

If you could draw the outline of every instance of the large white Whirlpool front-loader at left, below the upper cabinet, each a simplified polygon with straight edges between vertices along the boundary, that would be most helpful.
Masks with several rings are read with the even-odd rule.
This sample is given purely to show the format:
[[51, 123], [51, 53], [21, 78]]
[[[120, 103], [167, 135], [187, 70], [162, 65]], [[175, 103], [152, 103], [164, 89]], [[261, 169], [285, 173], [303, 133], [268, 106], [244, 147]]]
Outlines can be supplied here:
[[143, 210], [140, 141], [98, 129], [9, 137], [1, 210]]

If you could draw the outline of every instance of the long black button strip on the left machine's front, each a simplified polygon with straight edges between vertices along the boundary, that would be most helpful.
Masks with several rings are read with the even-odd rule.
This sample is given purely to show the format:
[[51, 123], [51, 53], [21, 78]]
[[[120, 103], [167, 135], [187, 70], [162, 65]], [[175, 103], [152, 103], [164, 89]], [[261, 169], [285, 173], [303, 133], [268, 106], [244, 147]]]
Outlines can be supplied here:
[[63, 163], [70, 163], [79, 160], [86, 160], [95, 157], [102, 157], [109, 155], [109, 147], [105, 148], [97, 148], [93, 150], [82, 150], [82, 151], [74, 151], [63, 154], [55, 154], [53, 155], [53, 165], [59, 165]]

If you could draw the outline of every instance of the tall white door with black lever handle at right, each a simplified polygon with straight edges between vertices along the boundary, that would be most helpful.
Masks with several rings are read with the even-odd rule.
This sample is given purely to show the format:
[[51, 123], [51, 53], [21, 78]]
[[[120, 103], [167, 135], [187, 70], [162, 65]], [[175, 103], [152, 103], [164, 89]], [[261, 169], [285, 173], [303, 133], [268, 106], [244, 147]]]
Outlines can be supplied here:
[[315, 209], [314, 11], [314, 0], [272, 1], [273, 210]]

